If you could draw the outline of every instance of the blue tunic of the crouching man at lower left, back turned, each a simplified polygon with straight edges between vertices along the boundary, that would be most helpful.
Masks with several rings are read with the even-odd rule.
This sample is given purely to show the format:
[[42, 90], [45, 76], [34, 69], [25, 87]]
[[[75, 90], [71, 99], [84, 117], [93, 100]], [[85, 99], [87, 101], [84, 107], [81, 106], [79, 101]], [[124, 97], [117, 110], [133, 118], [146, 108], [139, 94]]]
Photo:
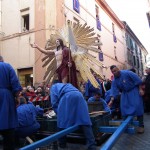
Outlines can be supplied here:
[[30, 136], [35, 133], [40, 124], [37, 122], [37, 115], [43, 115], [40, 107], [35, 107], [31, 102], [21, 104], [17, 107], [19, 126], [16, 128], [16, 135], [19, 137]]

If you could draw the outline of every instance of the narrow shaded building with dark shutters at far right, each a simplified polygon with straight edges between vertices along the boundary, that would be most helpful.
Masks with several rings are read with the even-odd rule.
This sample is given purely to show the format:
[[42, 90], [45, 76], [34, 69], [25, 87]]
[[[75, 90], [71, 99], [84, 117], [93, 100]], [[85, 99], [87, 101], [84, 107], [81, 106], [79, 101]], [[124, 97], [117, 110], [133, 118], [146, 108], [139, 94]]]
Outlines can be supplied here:
[[128, 24], [125, 21], [123, 23], [127, 46], [127, 68], [134, 68], [136, 73], [142, 77], [148, 52]]

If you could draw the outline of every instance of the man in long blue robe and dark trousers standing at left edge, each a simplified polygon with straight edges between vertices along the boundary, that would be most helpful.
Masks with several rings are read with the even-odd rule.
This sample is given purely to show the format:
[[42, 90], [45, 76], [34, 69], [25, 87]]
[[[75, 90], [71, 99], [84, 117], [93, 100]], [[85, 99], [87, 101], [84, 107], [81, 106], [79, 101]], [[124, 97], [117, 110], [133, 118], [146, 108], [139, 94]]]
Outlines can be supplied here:
[[21, 90], [15, 70], [0, 56], [0, 134], [4, 150], [15, 149], [14, 129], [18, 125], [15, 96]]

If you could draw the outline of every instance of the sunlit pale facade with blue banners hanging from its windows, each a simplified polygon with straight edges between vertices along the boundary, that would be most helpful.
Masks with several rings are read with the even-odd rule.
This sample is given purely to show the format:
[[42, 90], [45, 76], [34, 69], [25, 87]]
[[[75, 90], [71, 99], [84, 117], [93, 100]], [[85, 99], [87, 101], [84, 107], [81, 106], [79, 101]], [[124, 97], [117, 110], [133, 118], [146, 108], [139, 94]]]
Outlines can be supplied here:
[[[124, 25], [107, 3], [102, 0], [65, 0], [64, 6], [66, 20], [80, 21], [94, 28], [102, 46], [98, 47], [100, 53], [92, 54], [107, 67], [116, 64], [125, 69]], [[100, 71], [110, 79], [109, 69]]]

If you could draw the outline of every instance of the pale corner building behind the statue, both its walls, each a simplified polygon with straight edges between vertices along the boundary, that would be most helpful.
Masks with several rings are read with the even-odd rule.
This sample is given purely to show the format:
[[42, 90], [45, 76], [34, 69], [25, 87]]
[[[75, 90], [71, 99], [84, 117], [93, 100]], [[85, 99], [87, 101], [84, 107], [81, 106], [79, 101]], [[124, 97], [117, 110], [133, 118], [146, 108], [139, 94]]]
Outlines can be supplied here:
[[[92, 54], [105, 66], [129, 68], [125, 26], [105, 0], [4, 0], [0, 9], [0, 54], [15, 68], [22, 86], [43, 82], [45, 73], [44, 55], [30, 44], [44, 48], [50, 34], [67, 20], [94, 28], [102, 45]], [[109, 79], [112, 75], [109, 69], [100, 72]]]

